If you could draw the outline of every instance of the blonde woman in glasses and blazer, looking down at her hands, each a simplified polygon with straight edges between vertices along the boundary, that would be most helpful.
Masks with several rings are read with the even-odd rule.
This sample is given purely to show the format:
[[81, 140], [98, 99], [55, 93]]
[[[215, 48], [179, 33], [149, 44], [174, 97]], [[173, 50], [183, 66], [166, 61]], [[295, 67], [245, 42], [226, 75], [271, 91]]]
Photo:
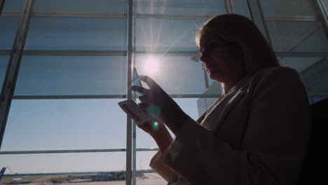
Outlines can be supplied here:
[[[259, 29], [242, 15], [217, 15], [196, 34], [200, 60], [222, 95], [193, 121], [148, 76], [133, 86], [144, 110], [138, 125], [160, 151], [151, 167], [169, 184], [296, 184], [310, 135], [310, 105], [294, 69], [280, 67]], [[168, 126], [176, 136], [172, 139]]]

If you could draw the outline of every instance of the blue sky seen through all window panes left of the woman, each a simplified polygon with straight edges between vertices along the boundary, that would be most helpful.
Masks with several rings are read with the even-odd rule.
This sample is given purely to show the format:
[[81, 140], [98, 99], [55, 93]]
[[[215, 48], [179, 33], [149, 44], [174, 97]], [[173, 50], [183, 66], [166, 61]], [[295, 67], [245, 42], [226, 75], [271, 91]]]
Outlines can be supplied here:
[[[192, 2], [193, 1], [193, 2]], [[6, 1], [5, 12], [22, 11], [22, 0]], [[162, 4], [164, 3], [164, 4]], [[78, 5], [78, 6], [76, 6]], [[216, 15], [224, 1], [135, 1], [136, 13]], [[46, 13], [127, 13], [128, 1], [38, 0], [34, 11]], [[18, 17], [0, 17], [0, 50], [11, 50]], [[197, 50], [193, 41], [204, 19], [135, 19], [136, 50]], [[4, 26], [2, 26], [4, 25]], [[126, 18], [33, 17], [27, 50], [127, 50]], [[157, 56], [158, 57], [158, 56]], [[205, 91], [200, 62], [191, 56], [160, 57], [157, 71], [142, 67], [169, 94]], [[9, 56], [0, 56], [0, 85]], [[150, 67], [149, 64], [146, 66]], [[151, 72], [153, 71], [153, 72]], [[161, 71], [161, 72], [158, 72]], [[126, 57], [24, 56], [15, 95], [124, 95]], [[177, 99], [189, 116], [198, 117], [197, 99]], [[1, 151], [55, 149], [124, 149], [126, 116], [121, 100], [13, 100]], [[157, 147], [137, 130], [137, 147]], [[153, 151], [137, 152], [137, 169], [148, 169]], [[13, 172], [83, 172], [125, 170], [125, 152], [1, 155], [0, 167]], [[6, 173], [9, 173], [8, 170]]]

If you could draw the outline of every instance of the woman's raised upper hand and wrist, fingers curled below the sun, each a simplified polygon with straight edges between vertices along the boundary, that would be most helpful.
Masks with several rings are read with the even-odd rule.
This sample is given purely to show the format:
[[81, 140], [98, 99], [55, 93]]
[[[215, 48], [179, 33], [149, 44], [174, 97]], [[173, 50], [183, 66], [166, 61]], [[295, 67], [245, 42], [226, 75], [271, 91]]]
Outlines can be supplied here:
[[139, 79], [144, 81], [149, 89], [133, 85], [131, 90], [143, 94], [139, 100], [146, 106], [147, 114], [152, 118], [158, 118], [177, 135], [188, 116], [152, 78], [141, 75]]

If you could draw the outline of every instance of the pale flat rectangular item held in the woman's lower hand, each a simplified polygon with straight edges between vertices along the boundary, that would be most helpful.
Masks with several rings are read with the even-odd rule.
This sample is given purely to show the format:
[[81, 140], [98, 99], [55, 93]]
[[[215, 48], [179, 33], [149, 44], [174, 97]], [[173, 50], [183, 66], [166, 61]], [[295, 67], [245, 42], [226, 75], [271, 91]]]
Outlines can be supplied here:
[[143, 125], [148, 121], [146, 112], [139, 107], [135, 100], [125, 100], [123, 102], [118, 102], [118, 105], [139, 125]]

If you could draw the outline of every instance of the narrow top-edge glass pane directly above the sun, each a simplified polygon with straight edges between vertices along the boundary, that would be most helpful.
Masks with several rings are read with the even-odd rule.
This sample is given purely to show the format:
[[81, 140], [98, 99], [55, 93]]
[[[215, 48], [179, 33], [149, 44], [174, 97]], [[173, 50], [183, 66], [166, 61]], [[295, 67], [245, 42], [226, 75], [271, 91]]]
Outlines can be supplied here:
[[135, 0], [136, 13], [217, 15], [226, 13], [224, 0]]

